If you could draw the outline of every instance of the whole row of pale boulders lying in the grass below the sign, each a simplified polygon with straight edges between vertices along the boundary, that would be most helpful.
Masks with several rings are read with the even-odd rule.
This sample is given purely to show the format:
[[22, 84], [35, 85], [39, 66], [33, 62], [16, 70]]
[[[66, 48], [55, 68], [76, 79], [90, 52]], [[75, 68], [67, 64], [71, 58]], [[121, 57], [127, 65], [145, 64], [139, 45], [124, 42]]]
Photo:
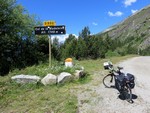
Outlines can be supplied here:
[[44, 78], [41, 78], [36, 75], [16, 75], [11, 77], [11, 79], [17, 83], [25, 84], [25, 83], [37, 83], [41, 82], [44, 85], [53, 85], [53, 84], [64, 84], [66, 82], [70, 82], [73, 79], [79, 79], [85, 76], [83, 70], [76, 70], [74, 75], [68, 72], [62, 72], [59, 75], [47, 74]]

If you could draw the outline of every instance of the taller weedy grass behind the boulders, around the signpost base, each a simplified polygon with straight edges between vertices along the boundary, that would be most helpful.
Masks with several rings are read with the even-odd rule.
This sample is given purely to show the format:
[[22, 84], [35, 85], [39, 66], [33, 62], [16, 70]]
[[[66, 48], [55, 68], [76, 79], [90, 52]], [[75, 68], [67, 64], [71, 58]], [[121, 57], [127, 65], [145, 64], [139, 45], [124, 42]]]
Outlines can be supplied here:
[[22, 70], [18, 70], [18, 69], [13, 70], [9, 75], [13, 76], [16, 74], [26, 74], [26, 75], [28, 74], [28, 75], [38, 75], [38, 76], [44, 77], [48, 73], [58, 75], [61, 72], [69, 72], [73, 74], [75, 70], [78, 70], [80, 68], [81, 66], [77, 64], [73, 66], [73, 68], [69, 68], [69, 67], [66, 68], [64, 65], [60, 63], [57, 63], [57, 64], [54, 63], [53, 66], [51, 67], [49, 67], [48, 63], [45, 63], [45, 64], [40, 64], [40, 65], [33, 65]]

